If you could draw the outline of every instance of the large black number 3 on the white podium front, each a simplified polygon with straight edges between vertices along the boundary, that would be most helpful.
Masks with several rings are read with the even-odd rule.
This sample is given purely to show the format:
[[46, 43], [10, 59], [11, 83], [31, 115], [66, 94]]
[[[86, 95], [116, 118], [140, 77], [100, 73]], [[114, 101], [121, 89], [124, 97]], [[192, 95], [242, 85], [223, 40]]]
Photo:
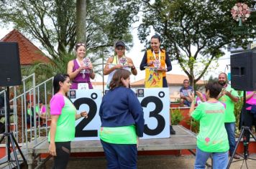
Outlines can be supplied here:
[[160, 100], [160, 98], [155, 96], [149, 96], [145, 97], [141, 105], [142, 107], [147, 107], [147, 105], [153, 102], [155, 104], [155, 110], [150, 112], [150, 117], [155, 117], [157, 120], [157, 127], [155, 129], [151, 130], [149, 127], [147, 127], [147, 124], [144, 125], [144, 132], [146, 135], [158, 135], [160, 132], [163, 132], [165, 128], [165, 119], [162, 115], [159, 115], [159, 113], [163, 110], [163, 102]]

